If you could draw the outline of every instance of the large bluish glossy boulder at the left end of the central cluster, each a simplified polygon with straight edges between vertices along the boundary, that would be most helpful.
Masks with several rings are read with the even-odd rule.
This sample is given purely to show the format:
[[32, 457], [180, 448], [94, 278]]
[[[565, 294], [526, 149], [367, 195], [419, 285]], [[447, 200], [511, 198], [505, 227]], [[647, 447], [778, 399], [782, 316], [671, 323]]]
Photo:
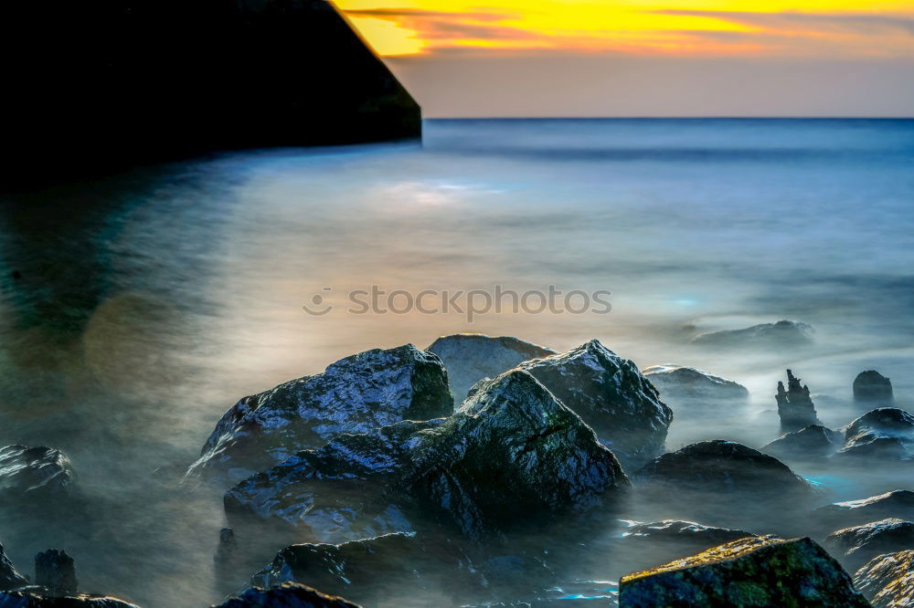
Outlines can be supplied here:
[[346, 357], [324, 373], [245, 397], [222, 416], [190, 475], [237, 482], [341, 433], [451, 414], [447, 372], [408, 344]]

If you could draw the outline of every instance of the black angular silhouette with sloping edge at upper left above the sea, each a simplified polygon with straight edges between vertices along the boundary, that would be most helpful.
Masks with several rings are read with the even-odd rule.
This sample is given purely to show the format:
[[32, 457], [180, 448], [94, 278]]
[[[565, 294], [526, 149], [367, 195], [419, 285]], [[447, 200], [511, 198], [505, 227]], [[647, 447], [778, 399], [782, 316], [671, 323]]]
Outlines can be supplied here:
[[420, 108], [324, 0], [5, 3], [4, 182], [239, 148], [420, 135]]

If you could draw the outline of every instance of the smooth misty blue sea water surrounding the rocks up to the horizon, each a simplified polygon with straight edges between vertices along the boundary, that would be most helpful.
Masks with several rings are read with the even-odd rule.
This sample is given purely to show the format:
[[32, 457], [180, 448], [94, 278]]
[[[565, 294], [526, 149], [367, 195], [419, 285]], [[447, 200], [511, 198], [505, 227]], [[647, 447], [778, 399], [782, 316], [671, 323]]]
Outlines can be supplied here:
[[[68, 550], [86, 591], [217, 602], [221, 492], [177, 482], [219, 416], [345, 355], [458, 331], [559, 351], [599, 338], [642, 368], [749, 388], [748, 405], [675, 412], [668, 449], [774, 439], [788, 367], [833, 428], [863, 412], [851, 383], [866, 369], [909, 407], [912, 204], [914, 121], [836, 120], [427, 121], [422, 144], [229, 153], [6, 194], [0, 446], [62, 449], [86, 506], [4, 512], [0, 541], [21, 571]], [[350, 312], [372, 285], [605, 289], [612, 309]], [[334, 309], [308, 314], [315, 294]], [[689, 343], [781, 319], [810, 323], [814, 344]], [[792, 466], [823, 503], [910, 485]]]

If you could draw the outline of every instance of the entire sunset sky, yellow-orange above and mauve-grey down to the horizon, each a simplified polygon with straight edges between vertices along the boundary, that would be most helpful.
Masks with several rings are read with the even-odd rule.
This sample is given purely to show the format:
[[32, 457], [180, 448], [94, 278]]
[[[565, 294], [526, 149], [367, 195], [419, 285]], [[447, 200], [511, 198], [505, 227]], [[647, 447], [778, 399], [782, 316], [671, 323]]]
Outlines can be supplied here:
[[914, 116], [914, 0], [335, 4], [429, 118]]

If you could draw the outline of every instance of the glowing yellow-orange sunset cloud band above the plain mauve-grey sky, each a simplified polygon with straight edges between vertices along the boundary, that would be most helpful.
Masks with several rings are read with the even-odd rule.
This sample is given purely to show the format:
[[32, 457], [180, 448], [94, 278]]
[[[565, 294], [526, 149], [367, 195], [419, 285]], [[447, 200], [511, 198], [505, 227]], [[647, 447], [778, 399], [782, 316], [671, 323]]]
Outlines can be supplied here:
[[914, 3], [338, 0], [380, 55], [550, 49], [637, 55], [914, 56]]

